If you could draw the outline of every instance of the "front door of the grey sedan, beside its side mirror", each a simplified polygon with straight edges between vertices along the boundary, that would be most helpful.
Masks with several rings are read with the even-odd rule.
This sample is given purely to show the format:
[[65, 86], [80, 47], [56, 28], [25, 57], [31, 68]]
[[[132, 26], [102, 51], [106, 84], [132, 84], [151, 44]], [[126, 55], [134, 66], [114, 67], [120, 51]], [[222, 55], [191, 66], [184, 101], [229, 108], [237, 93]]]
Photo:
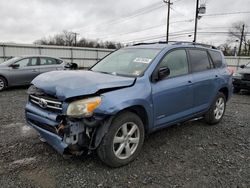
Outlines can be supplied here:
[[13, 85], [29, 84], [39, 75], [39, 65], [37, 57], [23, 58], [14, 64], [19, 67], [10, 70], [10, 80]]

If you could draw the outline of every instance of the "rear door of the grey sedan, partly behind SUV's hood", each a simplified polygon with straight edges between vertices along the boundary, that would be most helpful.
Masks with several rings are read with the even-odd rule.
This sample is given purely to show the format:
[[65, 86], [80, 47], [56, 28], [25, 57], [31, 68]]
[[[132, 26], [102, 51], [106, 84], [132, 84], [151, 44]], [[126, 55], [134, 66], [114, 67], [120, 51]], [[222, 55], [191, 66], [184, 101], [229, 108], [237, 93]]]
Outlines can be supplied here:
[[40, 57], [40, 73], [63, 70], [62, 61], [51, 57]]

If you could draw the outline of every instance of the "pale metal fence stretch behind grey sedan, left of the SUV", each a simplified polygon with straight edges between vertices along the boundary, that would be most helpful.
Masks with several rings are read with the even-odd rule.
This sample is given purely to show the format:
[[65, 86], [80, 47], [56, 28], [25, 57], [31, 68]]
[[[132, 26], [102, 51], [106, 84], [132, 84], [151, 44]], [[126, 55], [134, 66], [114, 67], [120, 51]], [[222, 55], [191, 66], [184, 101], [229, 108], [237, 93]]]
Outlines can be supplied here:
[[90, 67], [112, 51], [112, 49], [102, 48], [0, 44], [0, 63], [15, 56], [47, 55], [77, 63], [79, 67]]

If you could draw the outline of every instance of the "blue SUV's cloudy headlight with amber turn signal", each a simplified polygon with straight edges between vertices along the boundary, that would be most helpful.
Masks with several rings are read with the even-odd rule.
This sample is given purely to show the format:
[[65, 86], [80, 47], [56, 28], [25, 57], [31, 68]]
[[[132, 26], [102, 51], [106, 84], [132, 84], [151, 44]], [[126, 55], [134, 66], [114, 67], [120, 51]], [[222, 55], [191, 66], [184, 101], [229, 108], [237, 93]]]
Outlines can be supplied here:
[[93, 97], [74, 101], [69, 104], [67, 115], [72, 117], [90, 117], [93, 111], [101, 104], [101, 97]]

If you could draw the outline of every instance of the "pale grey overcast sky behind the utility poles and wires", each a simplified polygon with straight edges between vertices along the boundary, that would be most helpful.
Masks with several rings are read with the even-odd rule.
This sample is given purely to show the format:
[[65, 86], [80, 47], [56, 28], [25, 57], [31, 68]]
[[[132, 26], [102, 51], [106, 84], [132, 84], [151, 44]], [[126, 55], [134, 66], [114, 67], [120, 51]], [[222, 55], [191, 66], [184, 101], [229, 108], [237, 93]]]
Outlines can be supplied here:
[[[170, 40], [192, 41], [196, 0], [172, 0]], [[198, 22], [198, 42], [218, 45], [228, 38], [232, 23], [250, 26], [250, 0], [200, 0], [206, 14]], [[117, 42], [164, 40], [166, 4], [162, 0], [1, 0], [0, 42], [33, 43], [63, 30]], [[137, 13], [137, 15], [136, 15]], [[250, 28], [248, 29], [250, 30]]]

